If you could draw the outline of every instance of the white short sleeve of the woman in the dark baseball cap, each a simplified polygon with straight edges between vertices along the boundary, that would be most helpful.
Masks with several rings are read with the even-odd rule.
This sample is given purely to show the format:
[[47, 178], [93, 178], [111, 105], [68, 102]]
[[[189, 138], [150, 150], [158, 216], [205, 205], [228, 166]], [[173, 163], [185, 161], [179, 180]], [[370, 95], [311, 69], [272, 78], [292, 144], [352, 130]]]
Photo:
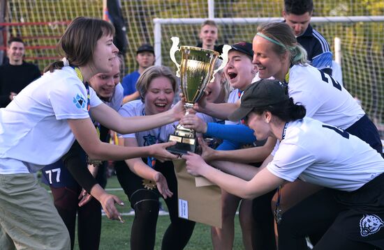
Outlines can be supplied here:
[[313, 162], [314, 155], [296, 143], [280, 143], [279, 150], [267, 169], [277, 177], [293, 182]]

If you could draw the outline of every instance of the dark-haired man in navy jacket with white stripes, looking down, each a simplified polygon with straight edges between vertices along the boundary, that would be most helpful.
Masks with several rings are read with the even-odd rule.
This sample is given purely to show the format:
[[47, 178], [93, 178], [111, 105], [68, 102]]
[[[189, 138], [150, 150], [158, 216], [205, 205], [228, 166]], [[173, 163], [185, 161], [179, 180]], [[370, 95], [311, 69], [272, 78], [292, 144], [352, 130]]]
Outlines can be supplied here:
[[284, 0], [283, 17], [295, 34], [297, 42], [307, 50], [313, 67], [332, 75], [332, 52], [327, 40], [312, 28], [312, 0]]

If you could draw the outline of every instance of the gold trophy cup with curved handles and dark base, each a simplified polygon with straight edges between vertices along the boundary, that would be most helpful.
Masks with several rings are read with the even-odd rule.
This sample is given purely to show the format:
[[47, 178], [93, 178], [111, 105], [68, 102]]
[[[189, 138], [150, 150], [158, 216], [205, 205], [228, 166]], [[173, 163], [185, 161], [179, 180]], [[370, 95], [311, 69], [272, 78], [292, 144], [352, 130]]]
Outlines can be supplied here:
[[[184, 94], [186, 114], [192, 109], [193, 104], [198, 102], [204, 95], [205, 87], [210, 81], [214, 80], [214, 74], [224, 68], [228, 62], [229, 45], [223, 46], [223, 63], [214, 70], [216, 59], [220, 56], [219, 52], [211, 49], [202, 49], [200, 47], [179, 45], [179, 38], [172, 37], [172, 47], [170, 48], [170, 58], [177, 66], [176, 76], [180, 77], [180, 87]], [[175, 53], [179, 51], [182, 54], [181, 63], [177, 63]], [[195, 152], [196, 135], [194, 130], [187, 129], [182, 125], [177, 125], [174, 134], [170, 134], [168, 141], [177, 141], [174, 146], [167, 148], [170, 153], [183, 155], [186, 152]]]

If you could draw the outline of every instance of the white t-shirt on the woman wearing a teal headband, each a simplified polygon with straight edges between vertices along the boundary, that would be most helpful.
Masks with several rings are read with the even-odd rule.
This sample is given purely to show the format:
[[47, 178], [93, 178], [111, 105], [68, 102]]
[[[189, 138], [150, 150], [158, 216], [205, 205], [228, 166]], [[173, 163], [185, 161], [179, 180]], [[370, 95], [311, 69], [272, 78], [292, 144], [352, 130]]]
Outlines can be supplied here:
[[329, 75], [311, 65], [293, 65], [288, 95], [307, 109], [307, 116], [346, 130], [364, 116], [362, 107]]

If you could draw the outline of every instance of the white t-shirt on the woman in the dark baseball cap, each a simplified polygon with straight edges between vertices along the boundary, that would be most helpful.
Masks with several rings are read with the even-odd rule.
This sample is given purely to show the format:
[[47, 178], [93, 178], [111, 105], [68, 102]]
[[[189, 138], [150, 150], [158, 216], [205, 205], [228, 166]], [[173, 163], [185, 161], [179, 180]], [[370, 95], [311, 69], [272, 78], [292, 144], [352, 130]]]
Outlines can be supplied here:
[[351, 192], [384, 172], [384, 160], [368, 143], [312, 118], [288, 123], [267, 169], [284, 180], [297, 178]]

